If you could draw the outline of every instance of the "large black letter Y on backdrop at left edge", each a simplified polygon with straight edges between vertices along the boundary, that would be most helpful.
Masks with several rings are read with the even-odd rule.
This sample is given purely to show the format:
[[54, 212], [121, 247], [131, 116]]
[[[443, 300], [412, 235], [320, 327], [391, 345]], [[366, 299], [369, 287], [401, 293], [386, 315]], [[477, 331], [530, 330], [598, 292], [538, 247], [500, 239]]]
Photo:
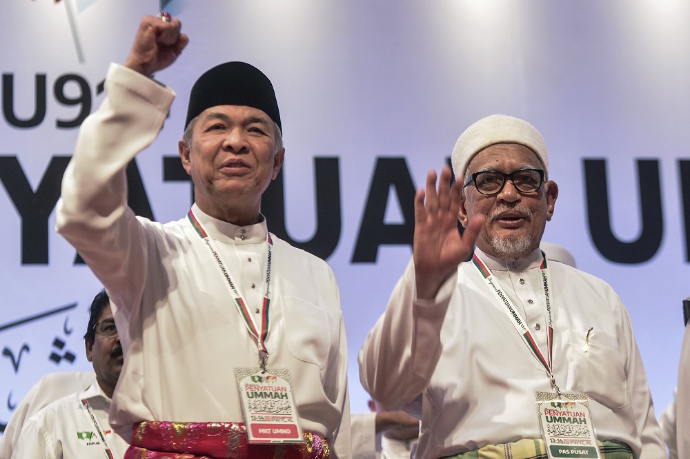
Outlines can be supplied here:
[[48, 264], [48, 217], [60, 197], [60, 183], [69, 156], [53, 156], [36, 192], [17, 156], [0, 156], [0, 181], [21, 216], [21, 264]]

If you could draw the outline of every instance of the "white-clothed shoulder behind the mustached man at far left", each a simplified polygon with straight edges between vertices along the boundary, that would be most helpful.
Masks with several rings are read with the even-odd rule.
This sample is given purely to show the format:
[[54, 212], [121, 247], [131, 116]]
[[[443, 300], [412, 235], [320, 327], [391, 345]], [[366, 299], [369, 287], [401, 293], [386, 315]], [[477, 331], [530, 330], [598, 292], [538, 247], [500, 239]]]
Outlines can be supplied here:
[[21, 399], [0, 437], [0, 459], [12, 456], [24, 422], [51, 402], [81, 392], [96, 382], [93, 371], [64, 371], [43, 376]]

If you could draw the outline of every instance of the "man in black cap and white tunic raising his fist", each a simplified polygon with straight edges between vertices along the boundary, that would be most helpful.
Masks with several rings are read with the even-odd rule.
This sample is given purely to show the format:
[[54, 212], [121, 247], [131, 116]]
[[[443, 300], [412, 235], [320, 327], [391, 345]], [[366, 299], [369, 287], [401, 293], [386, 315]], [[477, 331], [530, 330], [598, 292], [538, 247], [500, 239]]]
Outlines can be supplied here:
[[[155, 140], [175, 96], [150, 76], [185, 47], [180, 28], [162, 13], [142, 19], [81, 126], [57, 205], [58, 231], [108, 290], [121, 330], [111, 424], [130, 439], [128, 458], [349, 458], [335, 277], [270, 234], [259, 212], [285, 155], [268, 77], [226, 62], [197, 79], [177, 144], [194, 184], [186, 216], [161, 224], [127, 206], [126, 166]], [[270, 425], [274, 416], [284, 422]]]

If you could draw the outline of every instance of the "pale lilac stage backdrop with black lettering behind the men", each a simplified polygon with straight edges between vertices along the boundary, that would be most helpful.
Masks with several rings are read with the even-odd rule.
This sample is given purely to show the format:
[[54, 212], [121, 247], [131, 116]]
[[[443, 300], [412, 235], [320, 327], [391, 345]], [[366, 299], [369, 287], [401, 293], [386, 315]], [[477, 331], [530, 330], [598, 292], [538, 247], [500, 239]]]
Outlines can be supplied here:
[[[406, 195], [444, 164], [464, 128], [496, 112], [544, 135], [560, 185], [544, 240], [613, 285], [657, 413], [671, 400], [681, 301], [690, 295], [689, 3], [8, 0], [0, 6], [0, 424], [42, 374], [90, 367], [81, 336], [100, 287], [53, 230], [56, 187], [77, 135], [70, 125], [102, 100], [108, 63], [124, 61], [139, 18], [160, 3], [190, 44], [157, 74], [178, 98], [137, 158], [150, 210], [170, 221], [190, 205], [188, 183], [166, 179], [164, 156], [177, 154], [196, 77], [228, 60], [264, 70], [284, 129], [286, 231], [302, 242], [324, 228], [337, 234], [334, 249], [320, 249], [341, 289], [353, 411], [365, 411], [367, 397], [357, 351], [411, 255]], [[339, 224], [316, 216], [315, 159], [337, 162], [337, 176], [317, 181], [339, 184], [322, 204], [339, 203]], [[647, 160], [643, 192], [638, 160]], [[607, 187], [585, 176], [585, 161], [604, 165]], [[607, 208], [610, 218], [589, 214]]]

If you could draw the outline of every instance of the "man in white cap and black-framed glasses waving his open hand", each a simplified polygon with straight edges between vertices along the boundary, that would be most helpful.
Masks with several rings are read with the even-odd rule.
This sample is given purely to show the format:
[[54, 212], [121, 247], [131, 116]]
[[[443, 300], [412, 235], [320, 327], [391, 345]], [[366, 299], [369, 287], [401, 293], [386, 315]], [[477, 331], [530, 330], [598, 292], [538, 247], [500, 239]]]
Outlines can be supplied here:
[[488, 116], [452, 163], [415, 196], [412, 261], [359, 353], [369, 394], [422, 420], [415, 458], [667, 457], [620, 298], [539, 249], [541, 134]]

